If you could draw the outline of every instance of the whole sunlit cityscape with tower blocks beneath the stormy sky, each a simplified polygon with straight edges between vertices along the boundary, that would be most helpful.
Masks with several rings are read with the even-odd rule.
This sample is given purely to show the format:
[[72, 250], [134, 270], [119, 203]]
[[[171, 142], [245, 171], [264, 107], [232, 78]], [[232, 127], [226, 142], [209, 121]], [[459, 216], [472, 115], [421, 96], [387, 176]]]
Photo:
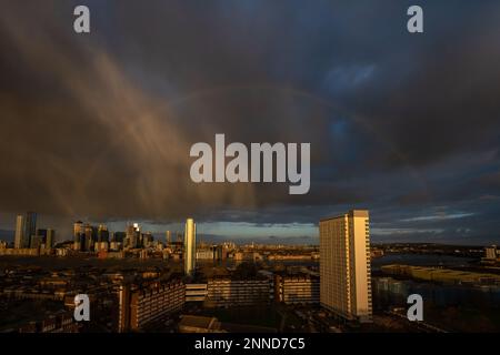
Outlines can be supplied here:
[[[172, 237], [168, 231], [160, 240], [137, 222], [113, 232], [104, 224], [74, 221], [72, 240], [53, 245], [56, 231], [41, 229], [37, 216], [18, 216], [13, 247], [0, 242], [0, 303], [8, 314], [0, 322], [2, 332], [498, 328], [494, 314], [484, 312], [498, 312], [492, 308], [500, 295], [496, 245], [372, 245], [368, 210], [319, 219], [319, 245], [202, 243], [192, 217], [183, 235]], [[430, 322], [416, 323], [401, 307], [408, 295], [422, 300], [420, 292]], [[86, 322], [78, 315], [80, 297], [87, 300]], [[457, 317], [468, 315], [454, 308], [457, 297], [482, 318], [458, 323]], [[38, 308], [37, 315], [30, 308]], [[456, 313], [443, 318], [451, 310]]]

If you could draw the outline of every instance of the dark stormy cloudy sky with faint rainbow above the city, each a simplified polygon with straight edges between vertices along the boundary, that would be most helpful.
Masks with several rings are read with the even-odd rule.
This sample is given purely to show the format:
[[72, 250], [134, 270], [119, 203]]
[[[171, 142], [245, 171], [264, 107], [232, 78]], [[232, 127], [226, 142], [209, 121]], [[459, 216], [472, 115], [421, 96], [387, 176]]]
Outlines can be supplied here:
[[[73, 31], [90, 9], [91, 33]], [[228, 240], [317, 243], [369, 209], [374, 242], [500, 243], [500, 3], [0, 4], [0, 230], [37, 211]], [[190, 146], [308, 142], [311, 187], [196, 184]]]

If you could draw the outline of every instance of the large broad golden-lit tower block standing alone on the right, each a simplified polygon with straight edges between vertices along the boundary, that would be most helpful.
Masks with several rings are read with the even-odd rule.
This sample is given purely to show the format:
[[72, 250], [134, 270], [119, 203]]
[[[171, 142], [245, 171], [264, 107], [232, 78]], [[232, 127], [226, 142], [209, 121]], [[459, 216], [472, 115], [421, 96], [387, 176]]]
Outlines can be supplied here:
[[320, 302], [347, 320], [371, 322], [369, 213], [352, 210], [320, 227]]

